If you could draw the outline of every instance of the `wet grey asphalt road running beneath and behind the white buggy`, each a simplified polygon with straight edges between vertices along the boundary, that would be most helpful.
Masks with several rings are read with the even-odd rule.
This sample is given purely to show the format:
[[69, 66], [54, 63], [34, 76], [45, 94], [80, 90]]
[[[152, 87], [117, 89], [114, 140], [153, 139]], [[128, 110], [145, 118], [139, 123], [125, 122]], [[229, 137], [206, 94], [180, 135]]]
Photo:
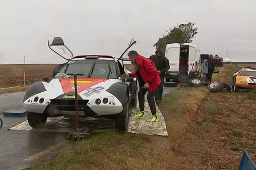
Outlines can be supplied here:
[[[169, 94], [177, 88], [164, 88]], [[52, 155], [67, 148], [72, 141], [67, 133], [14, 131], [8, 128], [26, 120], [24, 117], [3, 116], [4, 111], [21, 110], [25, 92], [0, 94], [0, 170], [20, 170], [38, 161], [50, 159]]]

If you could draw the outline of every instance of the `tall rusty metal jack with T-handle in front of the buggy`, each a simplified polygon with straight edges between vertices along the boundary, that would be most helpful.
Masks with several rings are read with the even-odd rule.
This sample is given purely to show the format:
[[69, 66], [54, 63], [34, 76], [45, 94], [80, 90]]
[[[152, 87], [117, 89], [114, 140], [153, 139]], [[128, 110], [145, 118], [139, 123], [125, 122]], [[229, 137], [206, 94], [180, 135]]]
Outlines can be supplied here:
[[74, 141], [81, 141], [88, 139], [90, 136], [89, 129], [81, 132], [79, 128], [79, 113], [78, 113], [78, 99], [77, 99], [77, 76], [83, 76], [84, 74], [67, 74], [68, 76], [74, 76], [74, 86], [75, 86], [75, 105], [76, 105], [76, 132], [69, 133], [67, 139], [73, 139]]

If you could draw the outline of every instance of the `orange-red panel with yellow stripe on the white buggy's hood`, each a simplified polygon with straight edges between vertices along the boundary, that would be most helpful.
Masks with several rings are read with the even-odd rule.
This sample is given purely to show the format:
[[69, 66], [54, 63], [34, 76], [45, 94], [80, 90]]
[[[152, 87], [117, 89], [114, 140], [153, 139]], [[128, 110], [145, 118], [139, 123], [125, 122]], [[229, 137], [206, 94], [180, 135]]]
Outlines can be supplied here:
[[[81, 91], [86, 90], [87, 88], [92, 87], [93, 85], [96, 85], [100, 82], [104, 82], [108, 79], [98, 79], [98, 78], [84, 78], [84, 79], [77, 79], [77, 93], [80, 93]], [[75, 91], [74, 88], [74, 79], [59, 79], [61, 83], [61, 88], [65, 93], [69, 93], [72, 91]], [[73, 88], [72, 88], [73, 87]]]

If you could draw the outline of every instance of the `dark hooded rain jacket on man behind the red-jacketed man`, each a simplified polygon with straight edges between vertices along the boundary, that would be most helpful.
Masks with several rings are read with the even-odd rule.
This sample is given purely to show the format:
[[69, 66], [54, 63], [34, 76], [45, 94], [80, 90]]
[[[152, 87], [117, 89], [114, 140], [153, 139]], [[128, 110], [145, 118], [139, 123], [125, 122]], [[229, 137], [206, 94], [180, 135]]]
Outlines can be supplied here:
[[[162, 56], [157, 57], [157, 52], [162, 53]], [[164, 51], [161, 47], [158, 47], [155, 53], [156, 54], [151, 55], [149, 59], [155, 63], [157, 70], [161, 71], [160, 77], [163, 79], [166, 71], [170, 69], [169, 59], [164, 56]]]

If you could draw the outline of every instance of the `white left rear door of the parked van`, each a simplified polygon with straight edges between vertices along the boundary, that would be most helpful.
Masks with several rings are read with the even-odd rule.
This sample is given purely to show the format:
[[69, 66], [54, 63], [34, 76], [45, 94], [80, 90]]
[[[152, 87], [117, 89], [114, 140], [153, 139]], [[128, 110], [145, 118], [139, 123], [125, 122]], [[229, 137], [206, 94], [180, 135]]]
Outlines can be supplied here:
[[166, 45], [166, 58], [170, 62], [169, 71], [179, 71], [180, 67], [180, 44], [167, 44]]

